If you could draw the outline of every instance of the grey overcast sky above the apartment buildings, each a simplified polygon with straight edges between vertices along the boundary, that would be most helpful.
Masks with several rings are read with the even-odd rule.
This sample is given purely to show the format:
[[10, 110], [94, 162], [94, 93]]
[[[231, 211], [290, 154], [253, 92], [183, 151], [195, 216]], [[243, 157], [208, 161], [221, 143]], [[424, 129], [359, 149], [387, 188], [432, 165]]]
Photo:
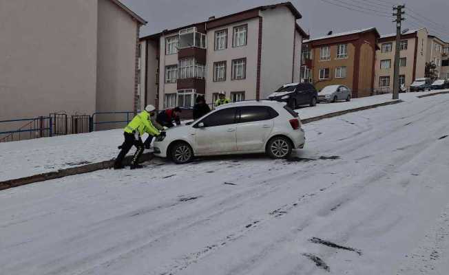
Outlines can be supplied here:
[[[148, 24], [140, 31], [140, 36], [154, 34], [165, 29], [178, 28], [189, 23], [205, 21], [210, 16], [239, 12], [259, 5], [279, 3], [282, 0], [121, 0], [134, 12], [143, 17]], [[330, 2], [330, 3], [326, 3]], [[394, 0], [292, 0], [293, 5], [302, 14], [302, 19], [297, 21], [300, 26], [311, 33], [312, 37], [322, 36], [329, 31], [345, 32], [359, 28], [376, 27], [381, 34], [395, 32], [395, 23], [390, 19], [379, 15], [366, 14], [346, 10], [332, 5], [351, 5], [351, 8], [365, 10], [384, 11], [391, 14], [389, 3]], [[417, 29], [419, 26], [428, 30], [449, 42], [449, 1], [448, 0], [405, 0], [406, 12], [416, 17], [404, 23], [405, 28]], [[358, 7], [357, 7], [358, 6]], [[415, 13], [412, 13], [415, 12]], [[378, 14], [378, 12], [375, 12]], [[419, 19], [419, 20], [418, 20]], [[428, 22], [430, 20], [432, 22]]]

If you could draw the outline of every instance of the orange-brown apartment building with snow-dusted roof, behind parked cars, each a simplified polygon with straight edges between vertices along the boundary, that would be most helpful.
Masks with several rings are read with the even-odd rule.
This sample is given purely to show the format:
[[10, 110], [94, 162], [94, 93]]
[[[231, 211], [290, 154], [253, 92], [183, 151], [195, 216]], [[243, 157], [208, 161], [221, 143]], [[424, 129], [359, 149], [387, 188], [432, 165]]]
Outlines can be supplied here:
[[329, 34], [304, 41], [302, 81], [320, 90], [345, 85], [353, 98], [370, 96], [375, 79], [376, 28]]

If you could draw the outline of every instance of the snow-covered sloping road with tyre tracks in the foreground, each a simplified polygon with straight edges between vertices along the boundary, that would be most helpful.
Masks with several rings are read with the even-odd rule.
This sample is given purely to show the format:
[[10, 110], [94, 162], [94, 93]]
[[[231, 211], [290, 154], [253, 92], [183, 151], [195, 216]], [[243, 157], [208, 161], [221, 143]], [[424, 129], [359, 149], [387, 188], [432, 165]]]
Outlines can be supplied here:
[[447, 274], [448, 104], [306, 124], [292, 162], [158, 160], [3, 190], [0, 274]]

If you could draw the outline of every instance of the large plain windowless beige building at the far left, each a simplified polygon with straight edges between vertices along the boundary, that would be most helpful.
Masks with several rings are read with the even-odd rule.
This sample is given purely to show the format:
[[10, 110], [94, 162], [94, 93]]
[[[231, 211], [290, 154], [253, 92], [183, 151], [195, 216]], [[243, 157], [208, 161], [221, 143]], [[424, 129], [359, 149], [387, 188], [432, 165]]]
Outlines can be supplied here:
[[117, 0], [2, 1], [0, 120], [137, 109], [145, 23]]

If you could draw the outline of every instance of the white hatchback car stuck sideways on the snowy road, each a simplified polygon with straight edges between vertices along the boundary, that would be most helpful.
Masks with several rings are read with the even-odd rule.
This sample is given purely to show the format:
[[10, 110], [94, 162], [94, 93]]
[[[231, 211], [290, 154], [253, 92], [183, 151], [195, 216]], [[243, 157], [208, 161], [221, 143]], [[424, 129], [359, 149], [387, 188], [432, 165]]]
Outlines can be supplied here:
[[221, 105], [189, 125], [168, 129], [166, 137], [156, 137], [154, 155], [176, 164], [195, 156], [245, 153], [281, 159], [304, 143], [295, 111], [284, 102], [252, 100]]

